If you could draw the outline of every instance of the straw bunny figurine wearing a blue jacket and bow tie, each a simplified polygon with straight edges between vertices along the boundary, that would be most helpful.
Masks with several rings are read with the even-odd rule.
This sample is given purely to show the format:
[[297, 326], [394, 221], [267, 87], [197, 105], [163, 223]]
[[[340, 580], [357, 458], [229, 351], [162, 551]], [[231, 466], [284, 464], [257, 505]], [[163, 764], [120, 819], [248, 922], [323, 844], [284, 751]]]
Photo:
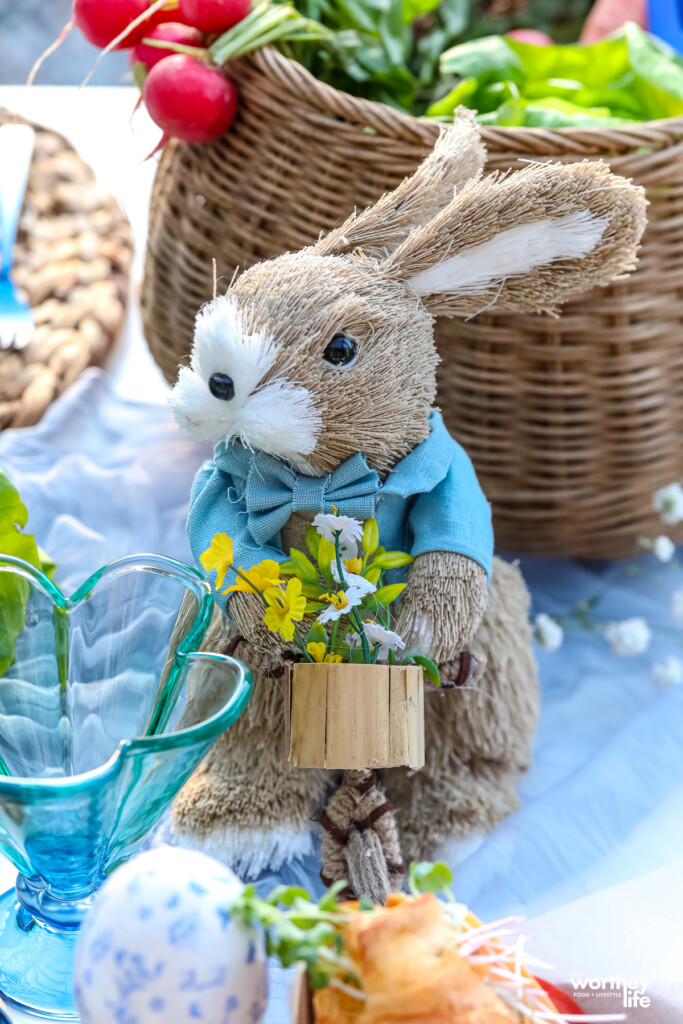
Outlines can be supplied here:
[[[483, 162], [461, 112], [393, 193], [316, 245], [238, 276], [199, 313], [191, 367], [171, 398], [178, 423], [216, 444], [190, 500], [198, 561], [217, 532], [249, 567], [304, 548], [307, 523], [333, 503], [377, 514], [381, 536], [391, 534], [382, 543], [416, 556], [394, 626], [408, 649], [461, 684], [461, 655], [474, 652], [479, 678], [426, 695], [425, 768], [383, 774], [410, 857], [515, 809], [539, 714], [523, 581], [492, 560], [488, 506], [433, 411], [434, 317], [553, 310], [632, 269], [645, 223], [642, 189], [602, 163], [482, 177]], [[228, 573], [221, 590], [233, 582]], [[227, 616], [243, 638], [230, 649], [256, 670], [255, 695], [180, 795], [174, 827], [254, 874], [313, 849], [330, 773], [285, 768], [287, 651], [261, 602], [233, 593]], [[224, 647], [224, 620], [217, 629], [212, 642], [222, 636]]]

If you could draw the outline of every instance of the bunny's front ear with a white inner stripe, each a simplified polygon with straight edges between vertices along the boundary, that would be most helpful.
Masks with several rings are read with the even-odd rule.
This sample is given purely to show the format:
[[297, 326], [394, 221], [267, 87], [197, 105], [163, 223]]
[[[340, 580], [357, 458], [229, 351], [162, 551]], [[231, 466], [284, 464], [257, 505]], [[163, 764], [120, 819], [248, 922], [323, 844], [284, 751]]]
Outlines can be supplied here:
[[632, 270], [643, 189], [606, 164], [532, 164], [470, 181], [380, 265], [434, 314], [554, 311]]

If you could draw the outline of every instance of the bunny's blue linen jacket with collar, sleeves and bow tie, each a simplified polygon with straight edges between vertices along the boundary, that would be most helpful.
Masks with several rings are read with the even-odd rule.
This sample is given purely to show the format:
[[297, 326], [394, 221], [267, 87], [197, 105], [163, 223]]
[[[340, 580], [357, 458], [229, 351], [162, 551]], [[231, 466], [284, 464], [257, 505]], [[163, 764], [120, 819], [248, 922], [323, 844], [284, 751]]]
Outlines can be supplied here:
[[[494, 535], [490, 507], [464, 449], [445, 429], [440, 413], [430, 433], [382, 482], [366, 457], [353, 456], [323, 477], [301, 476], [239, 440], [221, 441], [199, 470], [189, 502], [187, 534], [198, 563], [216, 534], [232, 538], [234, 564], [250, 568], [264, 558], [285, 561], [281, 530], [295, 512], [377, 517], [380, 543], [414, 557], [453, 551], [474, 559], [490, 574]], [[211, 571], [215, 584], [214, 570]], [[221, 589], [234, 583], [229, 571]], [[215, 588], [214, 588], [215, 589]], [[216, 595], [224, 609], [226, 598]]]

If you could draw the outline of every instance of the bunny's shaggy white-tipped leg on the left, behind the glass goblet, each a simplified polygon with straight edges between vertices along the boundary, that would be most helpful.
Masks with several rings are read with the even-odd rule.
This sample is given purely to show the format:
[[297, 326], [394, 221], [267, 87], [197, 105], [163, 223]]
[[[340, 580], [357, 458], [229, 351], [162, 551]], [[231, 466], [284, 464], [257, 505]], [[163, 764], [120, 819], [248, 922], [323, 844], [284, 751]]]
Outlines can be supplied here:
[[[224, 640], [223, 633], [223, 647]], [[329, 774], [288, 770], [282, 678], [255, 671], [267, 659], [245, 647], [233, 653], [251, 663], [254, 694], [178, 795], [173, 830], [183, 846], [253, 878], [312, 853], [311, 818], [325, 802]]]

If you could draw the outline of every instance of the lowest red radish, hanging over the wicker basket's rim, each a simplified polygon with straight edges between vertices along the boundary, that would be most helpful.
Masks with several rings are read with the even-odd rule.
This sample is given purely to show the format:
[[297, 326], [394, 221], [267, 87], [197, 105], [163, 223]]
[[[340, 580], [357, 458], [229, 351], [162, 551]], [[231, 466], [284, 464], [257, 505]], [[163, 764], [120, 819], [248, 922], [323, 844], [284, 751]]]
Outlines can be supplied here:
[[144, 102], [165, 135], [208, 142], [232, 124], [238, 96], [229, 79], [197, 57], [174, 53], [147, 75]]

